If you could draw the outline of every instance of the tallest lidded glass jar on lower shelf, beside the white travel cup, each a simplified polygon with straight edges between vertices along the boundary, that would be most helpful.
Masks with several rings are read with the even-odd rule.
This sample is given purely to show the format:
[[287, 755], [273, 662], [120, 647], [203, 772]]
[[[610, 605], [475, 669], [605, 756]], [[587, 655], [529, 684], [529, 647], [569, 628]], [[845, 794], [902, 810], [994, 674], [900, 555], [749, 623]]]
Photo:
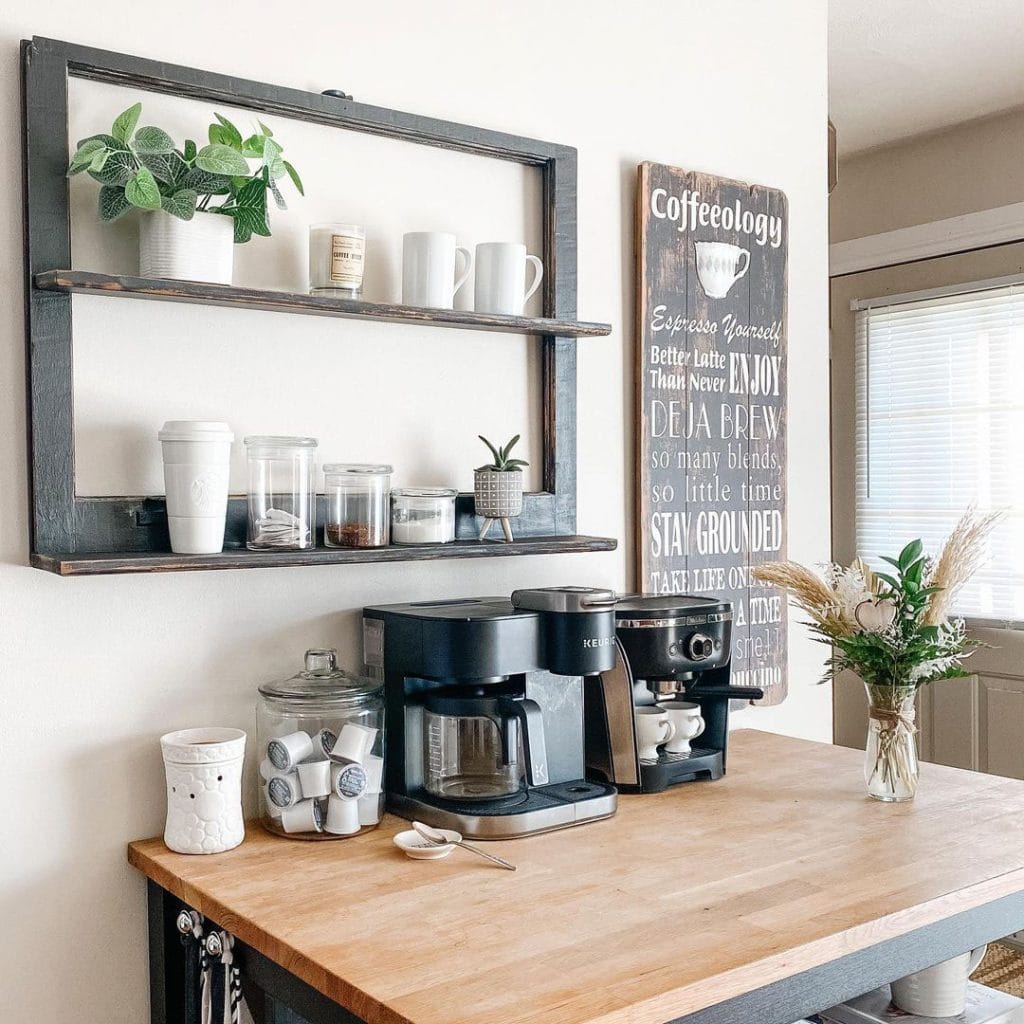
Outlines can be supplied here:
[[252, 551], [316, 547], [316, 438], [246, 437]]

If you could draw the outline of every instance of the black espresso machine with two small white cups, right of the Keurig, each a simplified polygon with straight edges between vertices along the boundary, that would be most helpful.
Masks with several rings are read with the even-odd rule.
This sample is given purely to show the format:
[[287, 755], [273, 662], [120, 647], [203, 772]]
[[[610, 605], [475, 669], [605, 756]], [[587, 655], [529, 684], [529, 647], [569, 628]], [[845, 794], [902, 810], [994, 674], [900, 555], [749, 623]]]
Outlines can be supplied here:
[[[632, 596], [618, 601], [614, 617], [614, 665], [585, 689], [588, 778], [623, 793], [721, 778], [729, 701], [764, 696], [757, 687], [730, 685], [732, 605], [715, 597]], [[670, 700], [697, 705], [703, 732], [688, 753], [659, 749], [642, 758], [637, 710]]]

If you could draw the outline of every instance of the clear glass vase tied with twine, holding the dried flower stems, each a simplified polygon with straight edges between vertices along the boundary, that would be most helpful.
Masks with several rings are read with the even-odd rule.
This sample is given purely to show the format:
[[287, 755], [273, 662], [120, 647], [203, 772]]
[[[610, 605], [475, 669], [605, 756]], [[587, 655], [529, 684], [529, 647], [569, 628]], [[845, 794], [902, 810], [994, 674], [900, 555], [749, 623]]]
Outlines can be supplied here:
[[867, 746], [864, 781], [867, 795], [886, 803], [913, 800], [918, 792], [915, 686], [878, 686], [867, 690]]

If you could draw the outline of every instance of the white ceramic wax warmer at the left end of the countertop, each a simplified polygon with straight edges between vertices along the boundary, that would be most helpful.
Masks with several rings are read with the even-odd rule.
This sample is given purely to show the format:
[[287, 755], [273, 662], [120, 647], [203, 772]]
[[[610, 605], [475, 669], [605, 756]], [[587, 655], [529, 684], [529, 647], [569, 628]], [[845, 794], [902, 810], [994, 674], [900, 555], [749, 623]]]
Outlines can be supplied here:
[[245, 838], [241, 729], [182, 729], [160, 737], [167, 775], [164, 842], [175, 853], [223, 853]]

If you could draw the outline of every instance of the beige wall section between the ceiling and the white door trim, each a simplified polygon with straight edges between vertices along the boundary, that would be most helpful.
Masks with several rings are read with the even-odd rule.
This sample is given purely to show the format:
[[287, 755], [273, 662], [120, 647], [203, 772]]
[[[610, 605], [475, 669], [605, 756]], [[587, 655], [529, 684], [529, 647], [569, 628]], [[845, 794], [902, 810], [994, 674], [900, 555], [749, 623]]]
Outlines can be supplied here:
[[[843, 126], [838, 126], [842, 134]], [[829, 241], [1024, 201], [1024, 108], [840, 162]]]

